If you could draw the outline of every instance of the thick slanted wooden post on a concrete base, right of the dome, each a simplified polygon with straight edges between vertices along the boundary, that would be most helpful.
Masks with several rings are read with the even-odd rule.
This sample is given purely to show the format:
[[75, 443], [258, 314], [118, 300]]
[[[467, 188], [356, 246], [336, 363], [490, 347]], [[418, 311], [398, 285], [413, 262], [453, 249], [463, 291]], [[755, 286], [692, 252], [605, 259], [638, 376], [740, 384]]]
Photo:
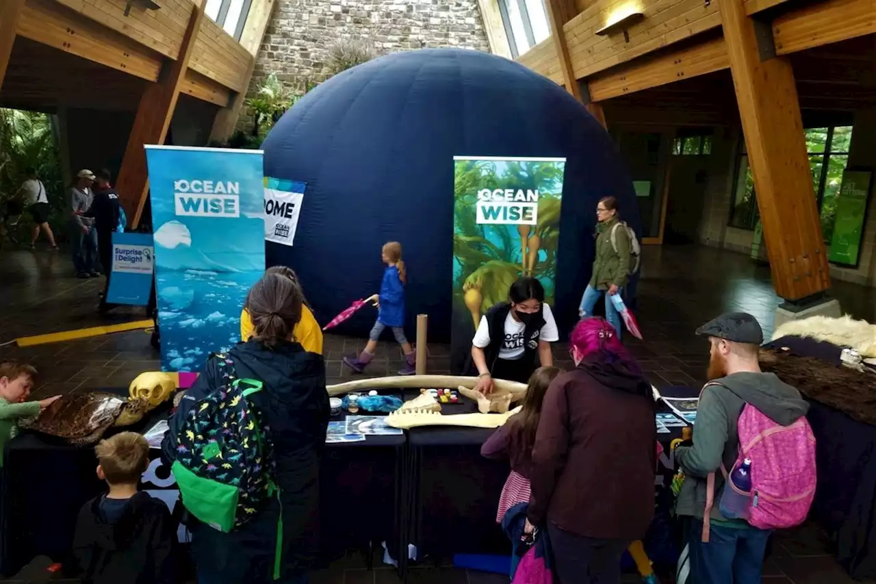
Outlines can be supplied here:
[[830, 288], [830, 273], [794, 72], [785, 57], [761, 61], [744, 3], [718, 8], [776, 294], [816, 296]]

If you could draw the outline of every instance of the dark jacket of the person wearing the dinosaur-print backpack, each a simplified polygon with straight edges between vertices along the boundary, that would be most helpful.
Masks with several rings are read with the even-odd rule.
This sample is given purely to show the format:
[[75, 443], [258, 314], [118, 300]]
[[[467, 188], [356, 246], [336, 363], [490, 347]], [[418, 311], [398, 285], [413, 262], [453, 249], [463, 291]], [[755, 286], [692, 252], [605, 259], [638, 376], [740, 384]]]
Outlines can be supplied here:
[[[237, 377], [263, 381], [265, 388], [250, 396], [265, 424], [271, 427], [277, 481], [283, 513], [285, 576], [307, 569], [319, 544], [319, 473], [329, 426], [322, 356], [301, 345], [283, 341], [274, 349], [256, 340], [240, 343], [228, 353]], [[217, 360], [210, 359], [203, 373], [186, 392], [170, 420], [162, 444], [162, 459], [170, 462], [176, 436], [194, 403], [219, 388], [223, 376]], [[271, 580], [280, 505], [272, 502], [249, 522], [222, 533], [192, 519], [192, 552], [198, 572], [211, 584]]]

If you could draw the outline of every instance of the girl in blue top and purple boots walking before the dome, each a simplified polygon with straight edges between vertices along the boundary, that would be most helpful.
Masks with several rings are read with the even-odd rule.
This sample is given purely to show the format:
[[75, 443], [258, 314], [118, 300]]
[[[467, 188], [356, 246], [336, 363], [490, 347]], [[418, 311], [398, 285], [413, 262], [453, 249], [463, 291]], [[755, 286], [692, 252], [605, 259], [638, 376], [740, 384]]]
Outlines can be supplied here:
[[365, 367], [374, 359], [374, 351], [378, 346], [380, 333], [388, 326], [392, 328], [395, 340], [401, 345], [407, 360], [399, 369], [399, 375], [413, 375], [416, 372], [413, 347], [405, 337], [405, 284], [407, 273], [405, 262], [401, 260], [401, 244], [391, 241], [383, 246], [381, 260], [386, 264], [383, 281], [380, 283], [380, 294], [369, 297], [366, 302], [378, 307], [378, 319], [371, 328], [368, 344], [358, 357], [344, 357], [343, 362], [356, 373], [364, 373]]

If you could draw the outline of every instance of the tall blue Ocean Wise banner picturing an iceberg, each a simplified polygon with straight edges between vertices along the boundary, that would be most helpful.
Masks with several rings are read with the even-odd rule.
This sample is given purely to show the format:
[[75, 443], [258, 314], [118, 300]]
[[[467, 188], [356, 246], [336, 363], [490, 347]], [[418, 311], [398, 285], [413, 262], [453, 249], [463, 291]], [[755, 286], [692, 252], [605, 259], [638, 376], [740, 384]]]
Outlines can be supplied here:
[[240, 340], [246, 293], [265, 272], [262, 152], [145, 148], [161, 368], [200, 371]]

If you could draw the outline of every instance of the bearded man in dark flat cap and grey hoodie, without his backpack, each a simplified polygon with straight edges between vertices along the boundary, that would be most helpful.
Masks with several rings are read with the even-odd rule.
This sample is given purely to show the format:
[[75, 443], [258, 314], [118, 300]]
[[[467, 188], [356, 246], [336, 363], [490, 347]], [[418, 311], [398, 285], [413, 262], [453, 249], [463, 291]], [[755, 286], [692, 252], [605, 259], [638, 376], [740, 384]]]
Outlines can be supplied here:
[[[771, 531], [721, 515], [721, 466], [731, 468], [738, 456], [736, 426], [745, 403], [782, 426], [805, 416], [809, 403], [775, 374], [760, 371], [763, 331], [752, 315], [724, 314], [703, 324], [696, 334], [709, 338], [710, 383], [700, 395], [692, 443], [675, 449], [675, 461], [687, 475], [676, 511], [688, 523], [689, 584], [759, 584]], [[715, 473], [714, 505], [703, 519], [710, 473]], [[703, 521], [710, 522], [708, 542], [702, 541]]]

